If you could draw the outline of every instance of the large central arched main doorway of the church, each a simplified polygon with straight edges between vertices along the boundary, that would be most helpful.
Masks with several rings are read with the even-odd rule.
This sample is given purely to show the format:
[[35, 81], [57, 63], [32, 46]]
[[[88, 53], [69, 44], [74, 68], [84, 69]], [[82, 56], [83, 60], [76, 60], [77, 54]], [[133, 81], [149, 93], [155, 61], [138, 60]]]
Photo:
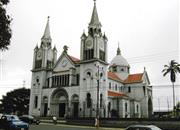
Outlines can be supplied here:
[[51, 100], [53, 115], [56, 115], [57, 117], [64, 117], [67, 115], [68, 94], [65, 89], [54, 90]]

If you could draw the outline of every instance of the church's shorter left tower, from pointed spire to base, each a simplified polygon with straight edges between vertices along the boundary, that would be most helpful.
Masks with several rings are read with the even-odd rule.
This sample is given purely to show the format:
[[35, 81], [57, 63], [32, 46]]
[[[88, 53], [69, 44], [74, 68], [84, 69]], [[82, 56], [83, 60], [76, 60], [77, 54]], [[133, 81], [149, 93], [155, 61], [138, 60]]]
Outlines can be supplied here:
[[43, 87], [46, 87], [48, 75], [52, 75], [51, 70], [57, 59], [56, 47], [52, 48], [52, 39], [49, 28], [49, 17], [41, 38], [40, 46], [34, 49], [32, 78], [31, 78], [31, 98], [29, 106], [30, 115], [42, 115], [41, 94]]

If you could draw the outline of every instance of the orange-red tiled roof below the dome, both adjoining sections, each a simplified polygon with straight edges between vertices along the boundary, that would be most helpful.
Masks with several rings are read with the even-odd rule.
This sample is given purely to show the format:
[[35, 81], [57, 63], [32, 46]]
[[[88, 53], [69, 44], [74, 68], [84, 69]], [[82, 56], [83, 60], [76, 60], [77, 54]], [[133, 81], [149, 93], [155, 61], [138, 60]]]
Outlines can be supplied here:
[[115, 73], [113, 72], [108, 72], [108, 78], [124, 83], [124, 84], [131, 84], [131, 83], [139, 83], [142, 82], [142, 77], [143, 73], [138, 73], [138, 74], [130, 74], [127, 79], [122, 80], [120, 79]]

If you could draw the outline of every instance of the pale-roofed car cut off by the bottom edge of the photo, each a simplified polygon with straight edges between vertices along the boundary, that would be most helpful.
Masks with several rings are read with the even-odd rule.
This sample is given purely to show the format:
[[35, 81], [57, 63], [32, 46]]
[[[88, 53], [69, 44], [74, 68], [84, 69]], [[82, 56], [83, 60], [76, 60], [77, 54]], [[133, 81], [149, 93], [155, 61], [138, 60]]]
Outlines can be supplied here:
[[131, 125], [127, 127], [125, 130], [161, 130], [161, 129], [154, 125]]

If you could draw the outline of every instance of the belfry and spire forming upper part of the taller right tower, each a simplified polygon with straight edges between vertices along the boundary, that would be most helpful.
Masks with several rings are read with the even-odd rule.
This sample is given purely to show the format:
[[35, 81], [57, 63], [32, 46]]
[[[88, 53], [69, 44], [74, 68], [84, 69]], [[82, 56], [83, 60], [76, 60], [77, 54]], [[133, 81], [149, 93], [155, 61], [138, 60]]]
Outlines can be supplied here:
[[83, 32], [81, 36], [81, 62], [100, 61], [107, 63], [107, 37], [101, 32], [101, 22], [99, 21], [96, 1], [91, 20], [88, 26], [88, 34]]

